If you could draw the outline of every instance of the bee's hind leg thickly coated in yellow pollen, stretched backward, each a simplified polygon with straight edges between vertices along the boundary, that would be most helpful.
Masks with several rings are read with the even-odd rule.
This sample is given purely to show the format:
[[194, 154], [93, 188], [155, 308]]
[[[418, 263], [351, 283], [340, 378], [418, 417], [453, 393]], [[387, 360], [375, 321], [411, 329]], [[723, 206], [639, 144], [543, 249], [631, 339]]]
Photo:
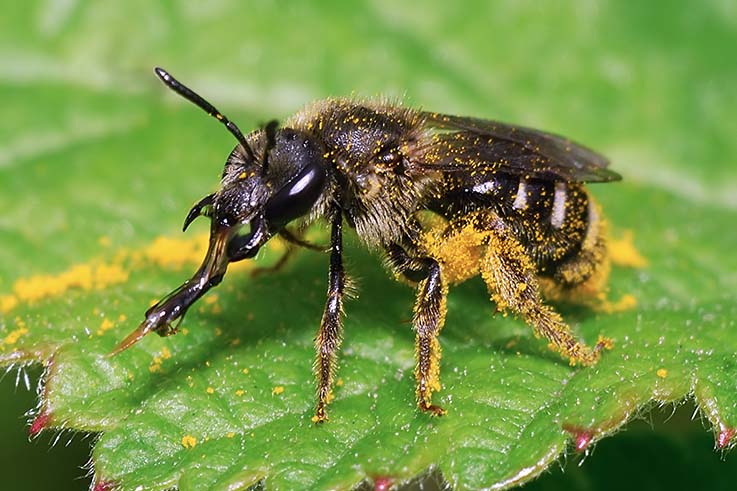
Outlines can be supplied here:
[[499, 217], [492, 217], [488, 237], [481, 276], [498, 308], [520, 314], [535, 335], [550, 341], [549, 346], [567, 357], [571, 365], [596, 363], [602, 348], [611, 347], [611, 341], [600, 338], [594, 349], [582, 344], [560, 314], [543, 303], [532, 260]]

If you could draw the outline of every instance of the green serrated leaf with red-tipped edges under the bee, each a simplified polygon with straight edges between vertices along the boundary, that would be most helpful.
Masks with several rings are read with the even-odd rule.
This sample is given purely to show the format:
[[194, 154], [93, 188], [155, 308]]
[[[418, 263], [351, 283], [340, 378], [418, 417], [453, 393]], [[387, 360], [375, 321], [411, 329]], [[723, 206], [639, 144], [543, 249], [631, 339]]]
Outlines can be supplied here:
[[[698, 7], [698, 8], [697, 8]], [[587, 451], [655, 403], [691, 397], [717, 446], [737, 428], [734, 13], [719, 2], [465, 8], [437, 3], [133, 2], [7, 6], [0, 19], [0, 363], [43, 363], [31, 431], [100, 433], [99, 489], [350, 489], [439, 469], [454, 489], [512, 486]], [[307, 42], [309, 40], [309, 42]], [[327, 258], [230, 273], [183, 332], [106, 354], [197, 265], [234, 142], [150, 73], [161, 64], [244, 130], [333, 94], [544, 127], [601, 149], [593, 186], [644, 269], [615, 267], [631, 310], [561, 306], [615, 348], [569, 367], [483, 285], [451, 291], [440, 419], [413, 394], [413, 292], [349, 243], [331, 419], [312, 424], [312, 338]], [[276, 246], [259, 258], [269, 264]], [[168, 259], [168, 260], [167, 260]], [[627, 298], [627, 297], [625, 297]], [[716, 456], [715, 456], [716, 458]]]

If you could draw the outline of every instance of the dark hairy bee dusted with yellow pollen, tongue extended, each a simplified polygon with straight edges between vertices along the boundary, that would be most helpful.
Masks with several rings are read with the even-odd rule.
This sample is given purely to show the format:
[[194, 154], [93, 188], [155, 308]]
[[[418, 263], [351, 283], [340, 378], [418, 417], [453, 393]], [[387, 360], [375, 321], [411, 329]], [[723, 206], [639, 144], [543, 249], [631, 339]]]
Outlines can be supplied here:
[[416, 289], [414, 376], [423, 412], [445, 413], [432, 401], [441, 387], [438, 335], [449, 286], [468, 278], [480, 275], [498, 310], [521, 317], [571, 364], [593, 365], [611, 347], [601, 336], [593, 348], [577, 340], [543, 301], [543, 294], [596, 294], [607, 279], [605, 222], [584, 187], [621, 179], [606, 158], [530, 128], [345, 98], [315, 102], [282, 126], [271, 122], [244, 136], [168, 72], [155, 73], [223, 123], [238, 144], [220, 189], [184, 221], [186, 230], [198, 216], [210, 219], [202, 265], [151, 307], [114, 353], [150, 332], [175, 333], [229, 263], [253, 258], [271, 238], [315, 248], [300, 231], [318, 220], [330, 227], [330, 265], [315, 337], [316, 422], [327, 419], [343, 337], [345, 225]]

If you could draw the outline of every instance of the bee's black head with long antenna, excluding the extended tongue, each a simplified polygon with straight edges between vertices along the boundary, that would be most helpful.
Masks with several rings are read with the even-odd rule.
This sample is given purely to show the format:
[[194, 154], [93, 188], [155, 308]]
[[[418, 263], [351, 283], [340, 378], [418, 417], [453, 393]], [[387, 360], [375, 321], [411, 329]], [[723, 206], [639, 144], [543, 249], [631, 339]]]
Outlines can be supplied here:
[[[243, 136], [212, 104], [162, 68], [156, 75], [170, 89], [223, 123], [238, 140], [225, 163], [220, 189], [197, 202], [183, 229], [200, 215], [211, 219], [211, 241], [225, 247], [223, 260], [253, 257], [290, 221], [305, 216], [325, 190], [322, 145], [308, 134], [279, 129], [272, 121]], [[250, 230], [243, 233], [248, 225]]]

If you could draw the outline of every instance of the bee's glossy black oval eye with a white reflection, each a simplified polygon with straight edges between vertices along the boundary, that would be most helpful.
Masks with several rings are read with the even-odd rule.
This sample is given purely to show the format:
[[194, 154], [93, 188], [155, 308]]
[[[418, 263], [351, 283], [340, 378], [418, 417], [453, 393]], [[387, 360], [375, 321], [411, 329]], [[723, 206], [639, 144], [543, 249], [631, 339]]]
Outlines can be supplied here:
[[264, 215], [270, 227], [281, 228], [310, 211], [323, 191], [325, 177], [325, 169], [312, 162], [290, 179], [266, 203]]

